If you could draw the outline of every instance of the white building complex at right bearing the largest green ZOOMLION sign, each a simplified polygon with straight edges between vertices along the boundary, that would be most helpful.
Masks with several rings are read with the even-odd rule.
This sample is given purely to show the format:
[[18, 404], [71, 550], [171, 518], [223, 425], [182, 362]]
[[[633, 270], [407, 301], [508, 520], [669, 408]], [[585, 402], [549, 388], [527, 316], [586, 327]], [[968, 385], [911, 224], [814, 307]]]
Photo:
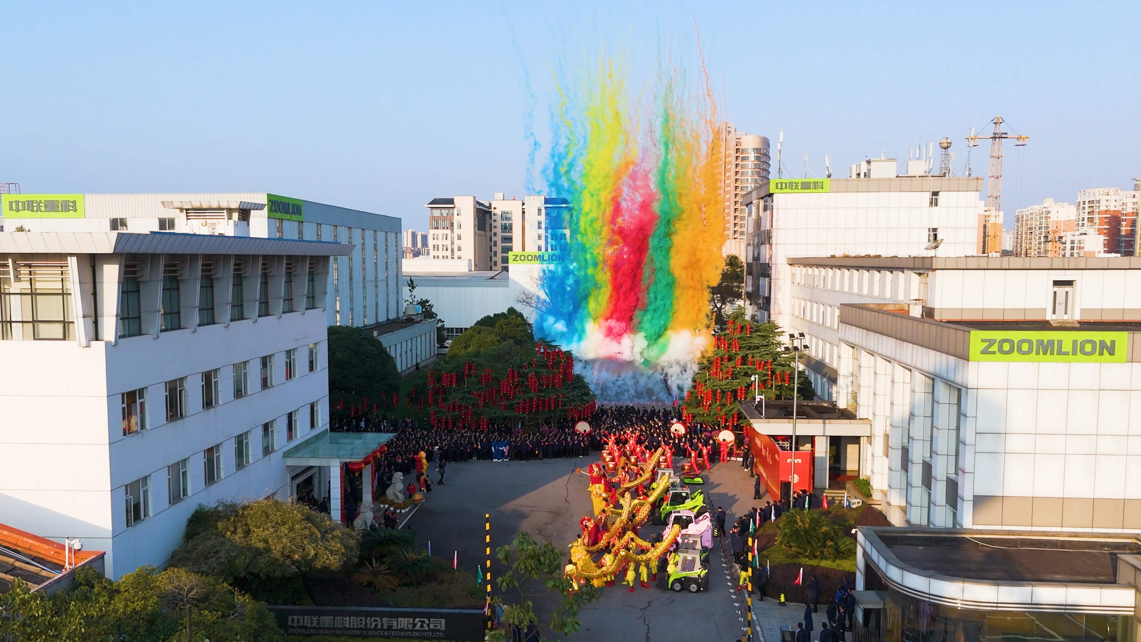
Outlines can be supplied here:
[[[801, 376], [850, 412], [801, 419], [810, 485], [867, 478], [898, 525], [1141, 531], [1141, 258], [787, 263]], [[754, 441], [791, 447], [760, 408]]]

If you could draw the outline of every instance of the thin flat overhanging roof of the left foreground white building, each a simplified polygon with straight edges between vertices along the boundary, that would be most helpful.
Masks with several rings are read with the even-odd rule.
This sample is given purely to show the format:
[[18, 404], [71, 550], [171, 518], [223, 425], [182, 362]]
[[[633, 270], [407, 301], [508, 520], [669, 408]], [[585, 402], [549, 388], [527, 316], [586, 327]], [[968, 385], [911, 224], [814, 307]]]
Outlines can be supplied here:
[[349, 256], [348, 243], [179, 232], [0, 232], [0, 252]]

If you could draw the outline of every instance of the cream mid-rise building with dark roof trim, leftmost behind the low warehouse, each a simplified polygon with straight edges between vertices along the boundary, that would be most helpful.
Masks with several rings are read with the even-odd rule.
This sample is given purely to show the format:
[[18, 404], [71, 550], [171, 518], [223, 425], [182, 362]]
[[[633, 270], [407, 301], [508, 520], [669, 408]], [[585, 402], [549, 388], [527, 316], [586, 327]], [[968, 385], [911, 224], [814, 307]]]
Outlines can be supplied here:
[[471, 259], [475, 270], [491, 268], [492, 210], [475, 196], [432, 199], [428, 208], [428, 246], [432, 258]]

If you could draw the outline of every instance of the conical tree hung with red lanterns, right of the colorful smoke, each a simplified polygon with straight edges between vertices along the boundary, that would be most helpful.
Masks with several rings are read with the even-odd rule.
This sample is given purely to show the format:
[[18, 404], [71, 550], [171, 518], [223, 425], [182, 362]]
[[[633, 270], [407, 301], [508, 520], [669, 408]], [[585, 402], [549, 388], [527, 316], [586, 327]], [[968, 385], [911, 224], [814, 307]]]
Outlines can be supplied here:
[[[736, 403], [754, 399], [754, 390], [766, 399], [792, 399], [792, 354], [784, 350], [776, 323], [754, 323], [737, 311], [726, 321], [726, 329], [713, 335], [713, 348], [702, 356], [694, 385], [681, 404], [686, 422], [735, 426], [739, 422]], [[758, 380], [753, 382], [753, 375]], [[754, 388], [755, 385], [755, 388]], [[815, 392], [807, 377], [800, 377], [800, 399]]]

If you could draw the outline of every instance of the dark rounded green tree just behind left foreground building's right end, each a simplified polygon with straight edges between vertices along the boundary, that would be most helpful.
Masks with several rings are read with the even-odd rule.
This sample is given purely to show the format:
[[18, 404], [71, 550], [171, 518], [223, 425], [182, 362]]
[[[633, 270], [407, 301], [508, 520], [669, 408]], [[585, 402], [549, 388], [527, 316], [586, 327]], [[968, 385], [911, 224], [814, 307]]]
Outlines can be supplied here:
[[400, 387], [396, 361], [369, 330], [329, 327], [329, 396], [333, 407], [379, 402]]

